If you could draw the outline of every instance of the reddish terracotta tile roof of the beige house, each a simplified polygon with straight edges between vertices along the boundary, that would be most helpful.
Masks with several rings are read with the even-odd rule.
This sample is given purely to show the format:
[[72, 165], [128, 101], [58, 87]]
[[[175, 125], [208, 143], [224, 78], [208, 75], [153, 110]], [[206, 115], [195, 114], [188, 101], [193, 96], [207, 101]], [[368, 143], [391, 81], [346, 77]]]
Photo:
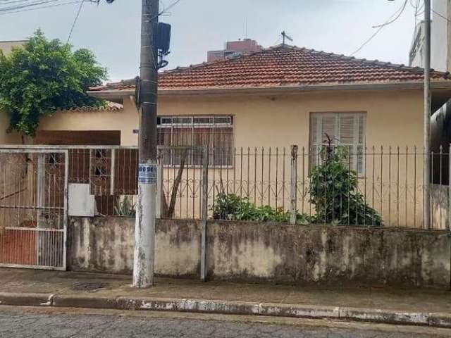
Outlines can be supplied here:
[[[433, 80], [448, 73], [431, 72]], [[159, 89], [308, 87], [319, 84], [420, 82], [423, 69], [368, 61], [313, 49], [276, 46], [214, 63], [175, 68], [159, 74]], [[93, 87], [92, 91], [130, 90], [135, 80]]]

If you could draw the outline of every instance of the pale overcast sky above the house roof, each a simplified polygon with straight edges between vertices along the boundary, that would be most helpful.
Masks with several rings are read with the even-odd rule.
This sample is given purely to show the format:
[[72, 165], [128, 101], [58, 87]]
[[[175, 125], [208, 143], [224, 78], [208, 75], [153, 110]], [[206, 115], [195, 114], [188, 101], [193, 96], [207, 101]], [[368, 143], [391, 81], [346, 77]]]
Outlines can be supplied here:
[[[5, 1], [5, 0], [4, 0]], [[6, 0], [11, 1], [11, 0]], [[61, 0], [65, 2], [66, 0]], [[175, 0], [161, 0], [169, 6]], [[56, 0], [58, 2], [58, 0]], [[408, 63], [415, 18], [408, 4], [395, 23], [388, 25], [354, 56]], [[223, 49], [228, 40], [249, 37], [264, 47], [280, 44], [285, 30], [295, 46], [350, 55], [385, 23], [404, 0], [180, 0], [160, 21], [172, 25], [171, 54], [166, 69], [202, 63], [206, 52]], [[0, 41], [30, 37], [41, 28], [49, 38], [66, 42], [79, 4], [37, 11], [0, 13]], [[70, 43], [91, 49], [109, 70], [109, 80], [139, 73], [140, 0], [113, 4], [85, 3]]]

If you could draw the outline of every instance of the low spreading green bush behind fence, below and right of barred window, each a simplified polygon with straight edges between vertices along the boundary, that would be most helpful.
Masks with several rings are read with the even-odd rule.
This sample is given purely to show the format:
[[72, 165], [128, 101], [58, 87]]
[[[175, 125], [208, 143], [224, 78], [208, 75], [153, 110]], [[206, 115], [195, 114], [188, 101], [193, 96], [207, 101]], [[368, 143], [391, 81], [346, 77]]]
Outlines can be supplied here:
[[[241, 198], [235, 194], [218, 194], [213, 210], [215, 220], [249, 220], [256, 222], [289, 223], [290, 212], [283, 208], [271, 206], [256, 206], [247, 198]], [[307, 224], [311, 218], [297, 213], [296, 222]]]

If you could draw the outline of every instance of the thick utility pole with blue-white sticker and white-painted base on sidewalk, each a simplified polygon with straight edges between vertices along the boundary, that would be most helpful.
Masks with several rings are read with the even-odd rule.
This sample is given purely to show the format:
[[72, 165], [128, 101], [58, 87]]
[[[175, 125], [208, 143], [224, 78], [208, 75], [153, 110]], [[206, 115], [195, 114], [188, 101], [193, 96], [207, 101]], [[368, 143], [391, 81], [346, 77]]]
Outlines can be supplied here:
[[142, 0], [138, 200], [133, 287], [154, 284], [159, 0]]

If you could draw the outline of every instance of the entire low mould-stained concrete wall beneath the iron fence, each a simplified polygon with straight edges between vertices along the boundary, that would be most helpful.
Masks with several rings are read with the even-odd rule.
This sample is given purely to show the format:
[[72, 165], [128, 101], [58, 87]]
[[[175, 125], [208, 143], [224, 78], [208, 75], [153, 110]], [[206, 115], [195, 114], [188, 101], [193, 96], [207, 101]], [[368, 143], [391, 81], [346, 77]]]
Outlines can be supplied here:
[[[68, 267], [130, 273], [133, 218], [72, 218]], [[450, 286], [451, 234], [421, 230], [211, 221], [211, 280]], [[156, 273], [198, 277], [197, 221], [159, 220]]]

